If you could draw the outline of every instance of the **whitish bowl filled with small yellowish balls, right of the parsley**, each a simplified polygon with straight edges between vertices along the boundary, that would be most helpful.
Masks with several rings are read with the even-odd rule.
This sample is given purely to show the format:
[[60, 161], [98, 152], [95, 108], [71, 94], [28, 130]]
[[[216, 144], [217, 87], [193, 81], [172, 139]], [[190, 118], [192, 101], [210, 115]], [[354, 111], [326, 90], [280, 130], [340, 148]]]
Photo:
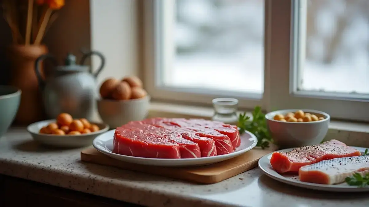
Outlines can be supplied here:
[[265, 115], [267, 129], [280, 149], [319, 144], [328, 132], [330, 115], [312, 109], [286, 109]]

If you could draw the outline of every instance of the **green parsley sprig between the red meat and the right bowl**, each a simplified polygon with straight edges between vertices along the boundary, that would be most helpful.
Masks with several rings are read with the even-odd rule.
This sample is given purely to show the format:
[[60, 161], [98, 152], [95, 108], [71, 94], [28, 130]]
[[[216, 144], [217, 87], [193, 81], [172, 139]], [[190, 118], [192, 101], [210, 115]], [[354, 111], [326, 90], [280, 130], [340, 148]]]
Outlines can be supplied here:
[[246, 116], [246, 112], [240, 114], [237, 126], [240, 129], [240, 134], [245, 131], [255, 134], [256, 138], [258, 138], [258, 144], [256, 146], [262, 149], [268, 148], [269, 142], [272, 142], [272, 137], [266, 128], [265, 114], [261, 111], [260, 106], [256, 106], [252, 112], [252, 120], [251, 117]]

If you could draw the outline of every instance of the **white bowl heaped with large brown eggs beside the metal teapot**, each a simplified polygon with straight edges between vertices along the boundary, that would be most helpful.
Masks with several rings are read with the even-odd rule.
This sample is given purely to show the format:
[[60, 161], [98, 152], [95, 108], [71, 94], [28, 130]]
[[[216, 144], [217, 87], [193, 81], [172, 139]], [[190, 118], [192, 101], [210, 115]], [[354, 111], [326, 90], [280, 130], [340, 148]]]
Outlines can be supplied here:
[[148, 115], [150, 97], [138, 77], [108, 78], [100, 86], [100, 96], [97, 109], [103, 122], [112, 129]]

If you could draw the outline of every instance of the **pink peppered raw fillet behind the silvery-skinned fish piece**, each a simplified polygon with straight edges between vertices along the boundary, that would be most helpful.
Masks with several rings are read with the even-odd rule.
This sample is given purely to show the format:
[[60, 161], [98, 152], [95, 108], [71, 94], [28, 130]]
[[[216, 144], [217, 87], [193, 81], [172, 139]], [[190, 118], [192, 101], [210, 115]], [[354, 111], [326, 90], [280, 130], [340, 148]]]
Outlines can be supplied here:
[[297, 173], [302, 166], [326, 159], [359, 156], [361, 152], [338, 140], [326, 141], [313, 146], [299, 147], [289, 152], [274, 152], [270, 164], [275, 171]]

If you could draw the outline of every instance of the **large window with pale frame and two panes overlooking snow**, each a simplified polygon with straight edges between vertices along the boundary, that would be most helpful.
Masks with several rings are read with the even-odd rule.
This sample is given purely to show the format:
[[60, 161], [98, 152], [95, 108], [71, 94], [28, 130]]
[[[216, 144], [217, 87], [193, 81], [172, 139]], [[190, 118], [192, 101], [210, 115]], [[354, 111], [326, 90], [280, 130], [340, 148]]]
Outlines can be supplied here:
[[369, 121], [367, 0], [145, 1], [156, 99], [312, 108]]

